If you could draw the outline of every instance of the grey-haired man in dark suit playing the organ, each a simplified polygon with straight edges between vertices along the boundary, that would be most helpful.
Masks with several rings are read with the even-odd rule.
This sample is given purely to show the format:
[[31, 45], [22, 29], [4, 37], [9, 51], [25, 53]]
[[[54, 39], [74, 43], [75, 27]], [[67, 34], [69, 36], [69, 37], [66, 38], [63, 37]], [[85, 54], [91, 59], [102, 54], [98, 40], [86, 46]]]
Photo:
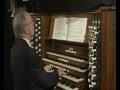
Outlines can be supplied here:
[[51, 90], [59, 76], [66, 74], [62, 69], [52, 70], [50, 65], [43, 66], [41, 57], [31, 48], [34, 36], [34, 22], [24, 9], [18, 9], [13, 19], [16, 38], [11, 48], [11, 70], [15, 90]]

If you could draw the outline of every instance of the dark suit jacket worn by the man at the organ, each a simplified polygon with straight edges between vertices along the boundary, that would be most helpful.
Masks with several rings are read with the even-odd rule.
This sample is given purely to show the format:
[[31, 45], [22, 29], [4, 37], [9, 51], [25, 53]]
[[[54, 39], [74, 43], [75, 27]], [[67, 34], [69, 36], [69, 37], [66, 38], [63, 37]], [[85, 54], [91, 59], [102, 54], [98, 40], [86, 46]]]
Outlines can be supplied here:
[[58, 83], [58, 72], [47, 73], [43, 68], [41, 57], [25, 40], [16, 40], [10, 57], [16, 90], [50, 90]]

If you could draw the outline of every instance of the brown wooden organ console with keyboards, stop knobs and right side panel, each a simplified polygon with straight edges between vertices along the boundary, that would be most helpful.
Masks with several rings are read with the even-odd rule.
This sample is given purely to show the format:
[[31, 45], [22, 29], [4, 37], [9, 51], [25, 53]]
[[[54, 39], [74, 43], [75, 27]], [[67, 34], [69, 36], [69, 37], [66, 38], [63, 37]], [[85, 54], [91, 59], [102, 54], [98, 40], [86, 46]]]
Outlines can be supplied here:
[[[31, 13], [35, 36], [31, 44], [45, 65], [62, 67], [55, 90], [115, 90], [115, 8], [80, 13]], [[87, 18], [83, 42], [54, 39], [55, 19]]]

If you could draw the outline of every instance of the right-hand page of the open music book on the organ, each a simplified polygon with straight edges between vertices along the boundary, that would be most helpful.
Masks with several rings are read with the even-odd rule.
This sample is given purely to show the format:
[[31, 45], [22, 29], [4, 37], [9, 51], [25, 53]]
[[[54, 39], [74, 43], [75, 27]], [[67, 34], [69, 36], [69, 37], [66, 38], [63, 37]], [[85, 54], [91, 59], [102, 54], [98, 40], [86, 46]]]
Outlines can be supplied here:
[[68, 20], [67, 40], [84, 42], [87, 27], [87, 18], [71, 17]]

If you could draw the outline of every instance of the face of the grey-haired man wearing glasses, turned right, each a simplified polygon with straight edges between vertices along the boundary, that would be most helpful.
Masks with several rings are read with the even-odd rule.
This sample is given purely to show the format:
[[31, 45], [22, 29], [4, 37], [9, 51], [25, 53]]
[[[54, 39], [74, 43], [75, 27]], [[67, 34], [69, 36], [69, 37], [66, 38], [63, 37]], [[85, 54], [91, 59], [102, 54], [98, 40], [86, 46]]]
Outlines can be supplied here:
[[28, 12], [25, 12], [25, 18], [26, 18], [27, 36], [29, 36], [30, 39], [32, 39], [34, 36], [34, 22], [32, 21], [32, 18]]

